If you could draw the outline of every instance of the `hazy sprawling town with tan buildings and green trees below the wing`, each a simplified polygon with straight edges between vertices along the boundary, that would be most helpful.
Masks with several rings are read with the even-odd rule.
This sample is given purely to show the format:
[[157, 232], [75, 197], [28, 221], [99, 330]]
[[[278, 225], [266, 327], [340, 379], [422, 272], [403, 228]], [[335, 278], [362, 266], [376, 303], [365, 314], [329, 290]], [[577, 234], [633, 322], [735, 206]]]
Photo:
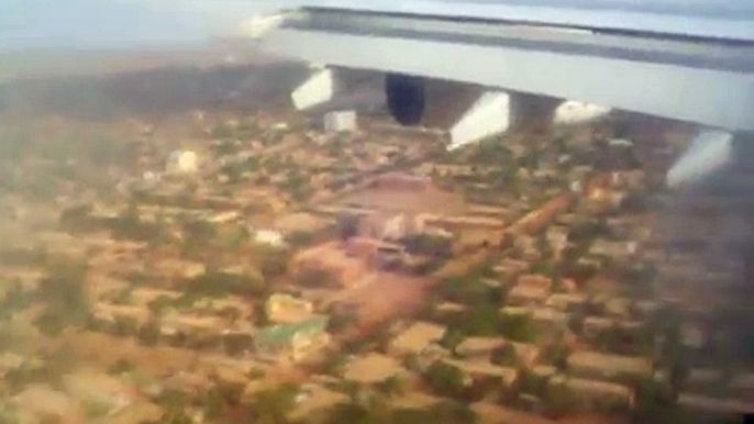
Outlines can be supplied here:
[[[613, 113], [448, 150], [381, 110], [292, 111], [301, 75], [3, 91], [0, 424], [754, 411], [730, 210], [665, 183], [690, 125]], [[251, 100], [217, 100], [239, 81]]]

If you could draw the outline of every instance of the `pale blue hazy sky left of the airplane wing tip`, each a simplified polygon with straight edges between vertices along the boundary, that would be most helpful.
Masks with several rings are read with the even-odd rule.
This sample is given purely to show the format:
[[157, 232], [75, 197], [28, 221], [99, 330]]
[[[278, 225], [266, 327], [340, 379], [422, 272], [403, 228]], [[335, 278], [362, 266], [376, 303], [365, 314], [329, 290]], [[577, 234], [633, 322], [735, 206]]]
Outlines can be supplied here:
[[296, 0], [0, 0], [0, 49], [198, 43]]

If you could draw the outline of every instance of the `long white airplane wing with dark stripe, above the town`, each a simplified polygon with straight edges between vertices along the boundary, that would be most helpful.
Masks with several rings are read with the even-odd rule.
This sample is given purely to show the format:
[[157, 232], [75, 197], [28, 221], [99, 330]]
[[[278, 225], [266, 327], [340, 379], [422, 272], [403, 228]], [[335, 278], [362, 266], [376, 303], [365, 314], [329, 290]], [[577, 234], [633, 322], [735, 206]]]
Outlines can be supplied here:
[[325, 0], [290, 11], [263, 46], [754, 131], [750, 0]]

